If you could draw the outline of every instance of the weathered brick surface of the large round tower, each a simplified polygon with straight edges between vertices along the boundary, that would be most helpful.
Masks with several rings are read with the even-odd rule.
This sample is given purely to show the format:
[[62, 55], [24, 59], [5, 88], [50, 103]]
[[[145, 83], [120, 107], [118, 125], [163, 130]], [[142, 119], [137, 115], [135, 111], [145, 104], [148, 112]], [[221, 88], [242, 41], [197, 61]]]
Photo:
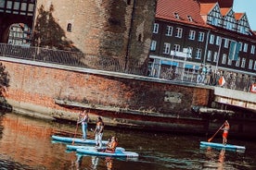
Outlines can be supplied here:
[[[35, 39], [72, 46], [88, 55], [147, 58], [156, 0], [38, 0]], [[43, 11], [40, 11], [40, 8]], [[53, 9], [50, 9], [52, 7]], [[39, 18], [47, 14], [49, 17]], [[67, 31], [68, 23], [72, 30]], [[43, 31], [46, 30], [46, 31]], [[45, 34], [47, 32], [47, 34]], [[35, 40], [38, 41], [38, 40]], [[128, 53], [127, 53], [128, 52]]]

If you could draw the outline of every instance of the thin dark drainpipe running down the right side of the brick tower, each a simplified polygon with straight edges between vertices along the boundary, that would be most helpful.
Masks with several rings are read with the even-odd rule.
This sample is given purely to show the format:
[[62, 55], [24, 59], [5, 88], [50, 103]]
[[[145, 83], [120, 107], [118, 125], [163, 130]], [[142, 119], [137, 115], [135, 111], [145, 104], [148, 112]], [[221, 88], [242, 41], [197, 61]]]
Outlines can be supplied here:
[[131, 23], [130, 23], [130, 28], [129, 28], [129, 32], [128, 32], [128, 42], [127, 42], [126, 53], [125, 53], [124, 72], [127, 72], [128, 58], [129, 58], [129, 55], [130, 55], [130, 47], [131, 47], [131, 39], [132, 39], [132, 28], [134, 26], [135, 4], [136, 4], [136, 0], [134, 0], [132, 16], [131, 16]]

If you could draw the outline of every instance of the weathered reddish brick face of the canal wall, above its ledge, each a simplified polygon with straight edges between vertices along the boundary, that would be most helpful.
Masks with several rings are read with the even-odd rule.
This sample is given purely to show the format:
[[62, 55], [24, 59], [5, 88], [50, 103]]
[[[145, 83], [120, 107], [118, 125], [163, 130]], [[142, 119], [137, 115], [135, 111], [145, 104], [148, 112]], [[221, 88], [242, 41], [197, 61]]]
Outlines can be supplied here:
[[208, 105], [210, 90], [136, 79], [3, 62], [10, 75], [6, 98], [60, 110], [66, 99], [165, 115], [184, 115]]

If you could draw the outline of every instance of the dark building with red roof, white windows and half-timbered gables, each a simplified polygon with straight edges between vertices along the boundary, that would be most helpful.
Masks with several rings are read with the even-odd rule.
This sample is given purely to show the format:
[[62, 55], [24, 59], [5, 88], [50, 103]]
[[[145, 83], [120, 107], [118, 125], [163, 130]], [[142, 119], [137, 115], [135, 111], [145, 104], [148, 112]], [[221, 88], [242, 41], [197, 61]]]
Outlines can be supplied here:
[[256, 36], [246, 13], [232, 6], [221, 0], [158, 1], [149, 75], [164, 78], [168, 70], [169, 79], [197, 81], [205, 67], [205, 74], [255, 78]]

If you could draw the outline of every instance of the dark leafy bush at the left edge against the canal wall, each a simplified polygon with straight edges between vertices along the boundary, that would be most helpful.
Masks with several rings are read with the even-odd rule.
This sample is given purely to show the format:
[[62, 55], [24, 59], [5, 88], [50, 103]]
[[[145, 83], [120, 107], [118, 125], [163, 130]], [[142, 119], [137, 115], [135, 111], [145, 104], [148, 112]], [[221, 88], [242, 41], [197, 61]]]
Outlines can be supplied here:
[[12, 106], [7, 103], [5, 93], [9, 87], [9, 75], [6, 67], [0, 63], [0, 109], [2, 112], [12, 111]]

